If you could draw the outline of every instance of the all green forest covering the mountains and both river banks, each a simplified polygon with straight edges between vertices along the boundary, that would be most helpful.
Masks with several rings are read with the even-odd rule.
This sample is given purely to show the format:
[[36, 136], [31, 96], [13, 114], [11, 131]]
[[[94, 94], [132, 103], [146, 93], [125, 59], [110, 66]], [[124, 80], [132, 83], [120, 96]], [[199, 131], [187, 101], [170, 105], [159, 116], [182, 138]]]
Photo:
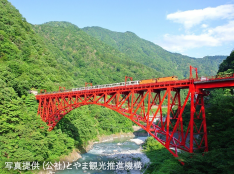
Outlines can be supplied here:
[[[59, 86], [71, 89], [84, 86], [85, 82], [94, 85], [122, 82], [125, 76], [133, 80], [168, 75], [185, 78], [189, 65], [198, 67], [200, 75], [229, 73], [234, 69], [233, 52], [227, 59], [189, 58], [163, 50], [131, 32], [121, 34], [121, 44], [114, 45], [111, 44], [114, 36], [105, 34], [103, 29], [101, 34], [106, 39], [96, 37], [99, 35], [94, 35], [96, 31], [80, 29], [68, 22], [32, 25], [7, 0], [0, 0], [0, 9], [1, 174], [32, 173], [8, 171], [5, 162], [58, 161], [73, 149], [85, 149], [99, 135], [133, 131], [130, 120], [99, 106], [73, 110], [48, 131], [37, 115], [38, 103], [30, 90], [58, 91]], [[127, 49], [129, 46], [132, 49]], [[139, 47], [142, 50], [136, 51]], [[211, 90], [206, 105], [210, 151], [194, 154], [192, 158], [183, 154], [186, 163], [181, 166], [165, 148], [148, 139], [145, 152], [152, 164], [146, 172], [230, 173], [234, 169], [232, 90]]]

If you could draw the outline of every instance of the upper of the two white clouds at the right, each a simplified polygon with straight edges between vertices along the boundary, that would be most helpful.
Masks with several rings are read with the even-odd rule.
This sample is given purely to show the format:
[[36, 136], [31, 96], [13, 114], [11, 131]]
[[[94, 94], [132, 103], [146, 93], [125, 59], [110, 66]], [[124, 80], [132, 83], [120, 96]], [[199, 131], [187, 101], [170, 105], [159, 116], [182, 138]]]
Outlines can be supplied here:
[[186, 29], [200, 24], [204, 20], [234, 18], [234, 4], [208, 7], [199, 10], [178, 11], [167, 15], [167, 19], [181, 23]]

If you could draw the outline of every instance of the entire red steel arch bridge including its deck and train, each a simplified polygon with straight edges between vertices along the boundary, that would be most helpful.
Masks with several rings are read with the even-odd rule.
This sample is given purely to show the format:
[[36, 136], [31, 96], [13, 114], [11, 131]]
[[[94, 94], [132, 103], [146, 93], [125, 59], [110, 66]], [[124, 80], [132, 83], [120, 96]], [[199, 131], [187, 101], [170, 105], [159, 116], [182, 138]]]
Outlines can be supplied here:
[[[140, 81], [127, 82], [127, 78], [122, 83], [38, 94], [38, 114], [52, 130], [73, 109], [95, 104], [132, 120], [174, 156], [178, 156], [179, 150], [208, 151], [204, 96], [209, 93], [206, 89], [233, 87], [234, 74], [198, 78], [197, 69], [190, 66], [190, 78], [184, 80], [141, 84]], [[187, 95], [181, 101], [180, 93], [184, 89]], [[164, 115], [163, 103], [167, 104]], [[183, 119], [187, 103], [190, 104], [190, 121], [186, 125]]]

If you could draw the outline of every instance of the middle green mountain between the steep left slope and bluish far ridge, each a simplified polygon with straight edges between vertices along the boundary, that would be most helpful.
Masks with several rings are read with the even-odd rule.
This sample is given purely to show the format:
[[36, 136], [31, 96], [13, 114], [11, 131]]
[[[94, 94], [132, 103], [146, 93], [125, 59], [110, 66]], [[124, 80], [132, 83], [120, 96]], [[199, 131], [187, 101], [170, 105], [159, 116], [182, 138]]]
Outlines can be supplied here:
[[86, 34], [68, 22], [48, 22], [33, 26], [44, 38], [62, 68], [82, 85], [85, 82], [105, 84], [133, 79], [158, 77], [154, 69], [130, 60], [124, 53]]

